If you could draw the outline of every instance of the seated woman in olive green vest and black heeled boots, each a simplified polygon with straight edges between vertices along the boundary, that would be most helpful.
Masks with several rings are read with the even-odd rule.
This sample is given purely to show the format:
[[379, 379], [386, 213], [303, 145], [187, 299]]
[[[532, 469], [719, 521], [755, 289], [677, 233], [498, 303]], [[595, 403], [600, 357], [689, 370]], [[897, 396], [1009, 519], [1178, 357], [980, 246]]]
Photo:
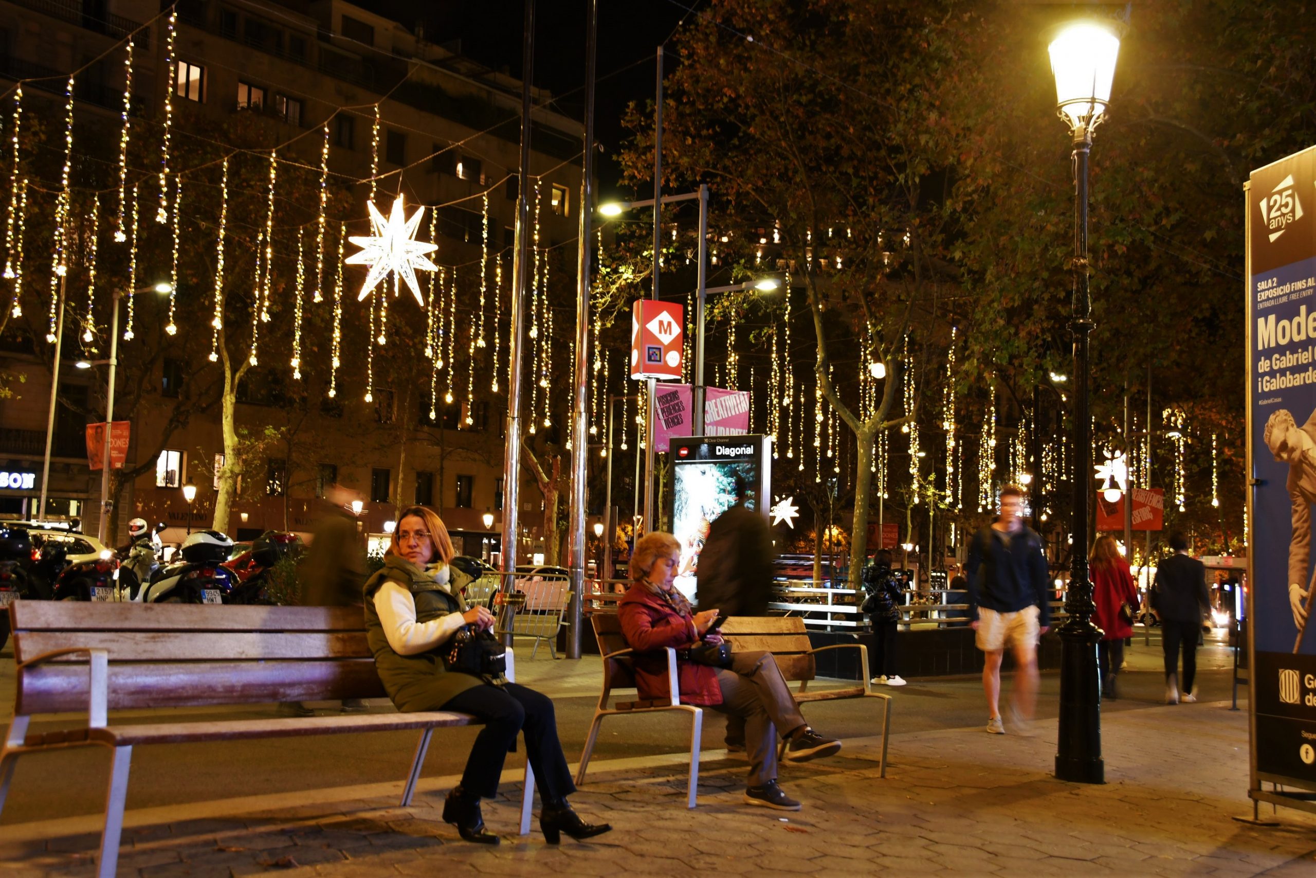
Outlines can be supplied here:
[[445, 670], [443, 646], [462, 625], [476, 629], [494, 625], [494, 615], [484, 607], [467, 609], [462, 590], [471, 577], [450, 566], [454, 554], [447, 528], [432, 509], [404, 509], [384, 554], [384, 567], [366, 582], [365, 594], [366, 637], [379, 679], [397, 710], [455, 711], [484, 723], [461, 785], [443, 803], [443, 820], [457, 825], [467, 841], [499, 842], [496, 835], [484, 829], [480, 798], [497, 794], [503, 760], [516, 745], [516, 733], [524, 731], [526, 756], [544, 802], [540, 812], [544, 837], [557, 844], [563, 832], [572, 839], [608, 832], [612, 827], [587, 824], [567, 804], [575, 785], [562, 756], [553, 702], [547, 696], [516, 683], [495, 684]]

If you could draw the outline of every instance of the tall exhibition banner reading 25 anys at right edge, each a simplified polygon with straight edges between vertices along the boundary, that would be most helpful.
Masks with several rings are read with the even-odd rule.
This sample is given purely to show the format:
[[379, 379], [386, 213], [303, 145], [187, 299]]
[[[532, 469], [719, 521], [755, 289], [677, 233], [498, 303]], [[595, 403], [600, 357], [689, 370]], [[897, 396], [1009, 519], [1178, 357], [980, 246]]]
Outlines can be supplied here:
[[1252, 172], [1248, 419], [1253, 798], [1316, 790], [1316, 147]]

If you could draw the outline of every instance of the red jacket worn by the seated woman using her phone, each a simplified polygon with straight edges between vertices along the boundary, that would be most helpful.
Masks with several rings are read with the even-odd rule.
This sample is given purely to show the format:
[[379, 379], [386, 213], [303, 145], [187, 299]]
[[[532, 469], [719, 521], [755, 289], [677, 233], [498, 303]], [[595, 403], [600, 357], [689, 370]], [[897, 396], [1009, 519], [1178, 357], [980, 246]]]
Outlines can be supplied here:
[[[640, 698], [669, 698], [666, 646], [687, 649], [699, 642], [695, 623], [682, 616], [647, 586], [636, 583], [617, 602], [626, 645], [636, 650], [636, 687]], [[717, 671], [708, 665], [676, 659], [676, 683], [683, 704], [709, 707], [722, 703]]]

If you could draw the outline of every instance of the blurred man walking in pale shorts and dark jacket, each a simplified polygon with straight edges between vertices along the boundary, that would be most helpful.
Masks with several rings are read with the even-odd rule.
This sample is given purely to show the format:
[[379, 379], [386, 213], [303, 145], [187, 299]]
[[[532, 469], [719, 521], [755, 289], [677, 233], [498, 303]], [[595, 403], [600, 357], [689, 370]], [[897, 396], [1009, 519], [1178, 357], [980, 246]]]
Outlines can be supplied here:
[[1037, 704], [1037, 640], [1050, 625], [1050, 575], [1042, 538], [1024, 524], [1024, 492], [1013, 484], [1000, 490], [1000, 516], [974, 534], [969, 549], [969, 627], [987, 656], [983, 691], [987, 731], [1004, 735], [1000, 720], [1000, 662], [1015, 653], [1015, 692], [1011, 719], [1024, 731]]

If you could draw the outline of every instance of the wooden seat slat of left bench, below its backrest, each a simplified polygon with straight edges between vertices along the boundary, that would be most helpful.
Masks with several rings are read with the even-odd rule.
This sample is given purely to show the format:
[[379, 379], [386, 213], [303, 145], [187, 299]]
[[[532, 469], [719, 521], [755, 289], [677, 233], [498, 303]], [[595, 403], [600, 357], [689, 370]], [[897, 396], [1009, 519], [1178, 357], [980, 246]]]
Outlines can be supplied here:
[[353, 716], [271, 717], [225, 723], [147, 723], [91, 729], [89, 738], [112, 746], [184, 744], [187, 741], [245, 741], [303, 735], [350, 735], [429, 727], [471, 725], [475, 717], [451, 711], [418, 713], [358, 713]]

